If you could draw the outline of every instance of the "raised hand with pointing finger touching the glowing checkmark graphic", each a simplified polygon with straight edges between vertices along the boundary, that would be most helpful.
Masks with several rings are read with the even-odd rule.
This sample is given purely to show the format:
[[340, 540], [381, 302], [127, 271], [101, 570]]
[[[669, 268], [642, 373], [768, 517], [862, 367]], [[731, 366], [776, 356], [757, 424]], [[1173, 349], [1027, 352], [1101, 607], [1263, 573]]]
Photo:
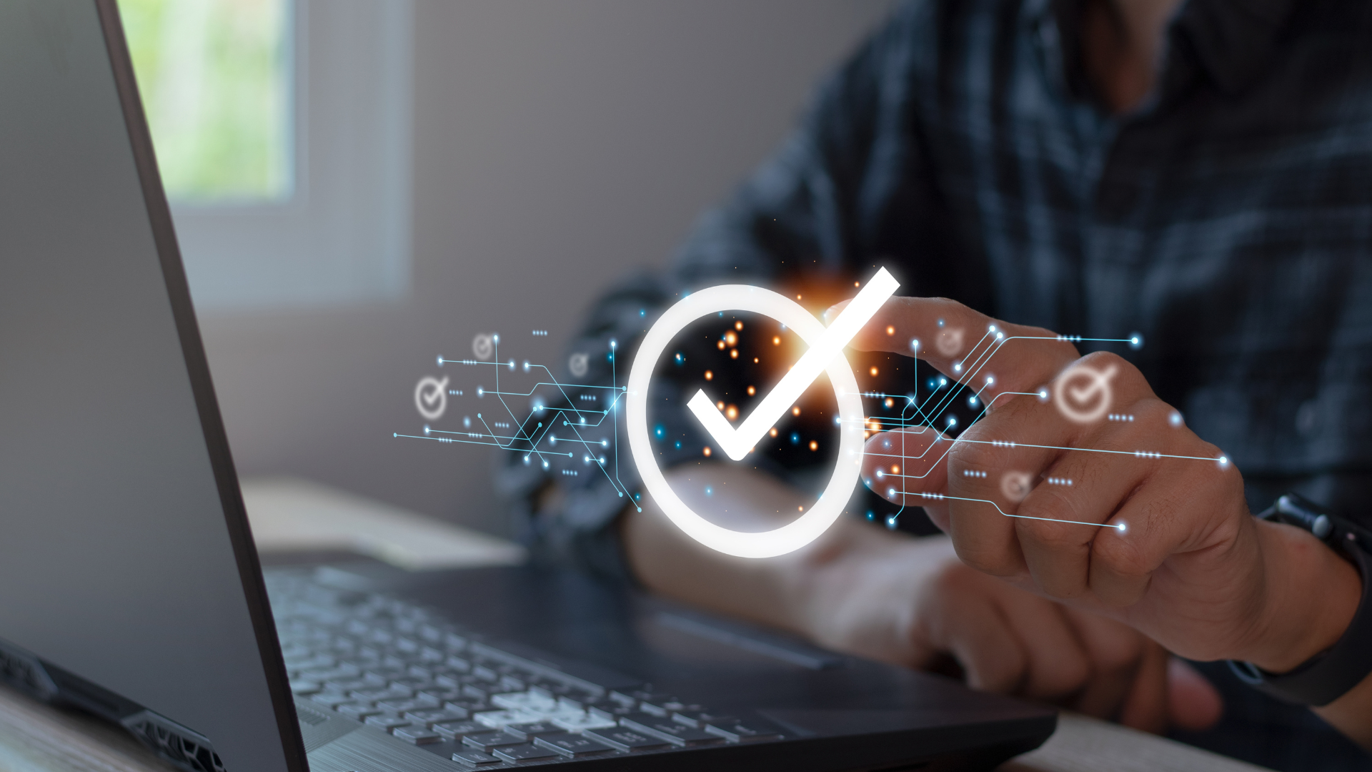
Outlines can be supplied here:
[[912, 339], [989, 412], [956, 440], [875, 434], [864, 478], [925, 507], [965, 563], [1195, 659], [1284, 672], [1342, 635], [1354, 569], [1251, 518], [1224, 452], [1128, 361], [929, 298], [892, 298], [852, 345], [910, 354]]

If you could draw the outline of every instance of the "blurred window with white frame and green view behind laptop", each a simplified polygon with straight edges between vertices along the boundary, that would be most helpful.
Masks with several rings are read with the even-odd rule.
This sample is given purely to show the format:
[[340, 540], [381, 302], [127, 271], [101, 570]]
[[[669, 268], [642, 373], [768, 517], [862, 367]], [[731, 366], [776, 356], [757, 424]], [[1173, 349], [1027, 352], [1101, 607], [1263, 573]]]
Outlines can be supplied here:
[[407, 291], [407, 0], [119, 10], [199, 310]]

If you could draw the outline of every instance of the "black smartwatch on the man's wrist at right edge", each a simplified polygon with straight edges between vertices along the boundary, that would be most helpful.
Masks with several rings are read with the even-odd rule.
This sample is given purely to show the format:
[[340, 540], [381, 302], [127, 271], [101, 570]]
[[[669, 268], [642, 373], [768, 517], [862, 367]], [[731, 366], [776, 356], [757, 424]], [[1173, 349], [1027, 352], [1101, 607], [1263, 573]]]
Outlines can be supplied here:
[[1357, 566], [1362, 600], [1343, 636], [1287, 673], [1268, 673], [1251, 662], [1229, 661], [1243, 683], [1286, 702], [1323, 706], [1343, 696], [1372, 673], [1372, 532], [1287, 493], [1257, 515], [1310, 532]]

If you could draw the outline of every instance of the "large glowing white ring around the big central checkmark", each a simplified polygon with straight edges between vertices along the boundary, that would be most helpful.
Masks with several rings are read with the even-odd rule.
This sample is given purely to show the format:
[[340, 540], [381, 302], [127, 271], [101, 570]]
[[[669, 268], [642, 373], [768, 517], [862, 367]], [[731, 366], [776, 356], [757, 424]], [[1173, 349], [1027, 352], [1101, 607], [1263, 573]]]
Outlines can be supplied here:
[[672, 337], [696, 319], [722, 310], [748, 310], [770, 316], [794, 330], [803, 341], [811, 345], [818, 342], [825, 332], [825, 326], [804, 306], [761, 287], [722, 284], [686, 295], [653, 323], [634, 356], [624, 400], [628, 448], [634, 455], [643, 488], [686, 536], [711, 549], [735, 558], [775, 558], [794, 552], [819, 538], [819, 534], [838, 519], [852, 496], [862, 473], [862, 427], [864, 422], [862, 396], [858, 391], [858, 379], [853, 376], [848, 360], [840, 352], [825, 367], [838, 400], [841, 422], [838, 463], [834, 466], [834, 474], [829, 478], [825, 492], [805, 514], [781, 527], [757, 533], [730, 530], [700, 516], [676, 496], [663, 475], [663, 470], [657, 467], [652, 440], [648, 435], [648, 386], [653, 370], [657, 367], [657, 360], [661, 359]]

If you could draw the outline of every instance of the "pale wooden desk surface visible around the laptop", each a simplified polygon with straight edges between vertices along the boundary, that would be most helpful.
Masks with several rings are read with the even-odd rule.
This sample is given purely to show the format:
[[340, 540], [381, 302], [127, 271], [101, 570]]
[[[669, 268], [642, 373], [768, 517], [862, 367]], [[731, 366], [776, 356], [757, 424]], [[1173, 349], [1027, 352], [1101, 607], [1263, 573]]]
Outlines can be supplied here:
[[[258, 547], [350, 551], [406, 569], [513, 565], [506, 541], [292, 479], [244, 481]], [[133, 738], [88, 716], [56, 710], [0, 687], [0, 772], [170, 772]], [[1172, 740], [1063, 714], [1048, 742], [1000, 772], [1261, 772]]]

